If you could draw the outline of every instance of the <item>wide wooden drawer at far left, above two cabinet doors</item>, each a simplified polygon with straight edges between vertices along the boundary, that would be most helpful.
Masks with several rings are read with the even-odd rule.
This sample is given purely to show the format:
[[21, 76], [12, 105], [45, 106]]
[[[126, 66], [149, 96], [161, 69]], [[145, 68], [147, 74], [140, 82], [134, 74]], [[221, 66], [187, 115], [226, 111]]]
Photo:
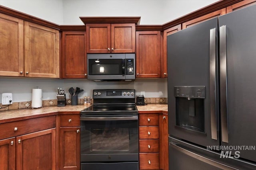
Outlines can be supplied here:
[[0, 124], [0, 139], [15, 137], [55, 127], [55, 115]]

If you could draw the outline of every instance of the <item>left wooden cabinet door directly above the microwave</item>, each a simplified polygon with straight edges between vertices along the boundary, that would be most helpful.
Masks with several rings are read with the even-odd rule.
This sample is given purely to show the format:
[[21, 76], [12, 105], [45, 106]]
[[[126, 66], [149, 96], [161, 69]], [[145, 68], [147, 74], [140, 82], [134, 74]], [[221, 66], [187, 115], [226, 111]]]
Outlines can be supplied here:
[[87, 53], [110, 53], [111, 33], [110, 24], [86, 24]]

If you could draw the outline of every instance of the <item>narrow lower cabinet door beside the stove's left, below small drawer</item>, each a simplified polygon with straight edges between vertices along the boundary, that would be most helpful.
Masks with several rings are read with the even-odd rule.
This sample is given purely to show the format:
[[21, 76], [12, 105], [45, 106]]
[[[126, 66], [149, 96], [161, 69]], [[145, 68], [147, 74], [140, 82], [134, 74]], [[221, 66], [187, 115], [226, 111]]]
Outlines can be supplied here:
[[80, 127], [60, 128], [60, 170], [80, 170]]

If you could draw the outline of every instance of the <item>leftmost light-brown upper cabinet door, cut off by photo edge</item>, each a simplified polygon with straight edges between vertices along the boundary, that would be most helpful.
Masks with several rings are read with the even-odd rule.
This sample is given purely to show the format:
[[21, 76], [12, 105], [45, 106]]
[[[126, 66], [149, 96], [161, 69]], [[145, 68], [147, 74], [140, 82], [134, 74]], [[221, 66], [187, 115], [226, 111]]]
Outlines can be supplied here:
[[0, 76], [24, 76], [23, 20], [0, 14]]

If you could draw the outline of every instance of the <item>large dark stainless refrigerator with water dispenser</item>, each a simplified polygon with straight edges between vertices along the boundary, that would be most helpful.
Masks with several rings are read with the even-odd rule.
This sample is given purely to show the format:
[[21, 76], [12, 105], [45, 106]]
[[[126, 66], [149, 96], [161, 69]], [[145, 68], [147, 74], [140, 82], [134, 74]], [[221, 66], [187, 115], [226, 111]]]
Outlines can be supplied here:
[[169, 170], [255, 170], [256, 5], [167, 41]]

